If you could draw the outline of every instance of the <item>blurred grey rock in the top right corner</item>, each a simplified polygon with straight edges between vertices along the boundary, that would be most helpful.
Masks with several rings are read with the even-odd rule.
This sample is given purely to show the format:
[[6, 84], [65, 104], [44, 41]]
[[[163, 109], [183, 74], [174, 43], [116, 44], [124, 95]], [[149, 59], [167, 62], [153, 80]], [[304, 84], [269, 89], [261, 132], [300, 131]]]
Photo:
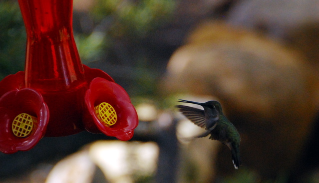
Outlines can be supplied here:
[[238, 0], [228, 21], [282, 38], [300, 23], [319, 20], [318, 0]]

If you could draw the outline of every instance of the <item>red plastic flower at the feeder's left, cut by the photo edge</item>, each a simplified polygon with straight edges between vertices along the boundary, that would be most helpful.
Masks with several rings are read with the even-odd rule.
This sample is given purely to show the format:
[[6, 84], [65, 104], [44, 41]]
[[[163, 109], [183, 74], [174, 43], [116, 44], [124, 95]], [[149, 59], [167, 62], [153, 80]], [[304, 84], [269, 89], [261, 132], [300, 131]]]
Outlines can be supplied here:
[[[26, 113], [37, 118], [30, 134], [26, 137], [15, 136], [12, 132], [14, 118]], [[44, 136], [49, 120], [49, 111], [41, 94], [25, 88], [12, 90], [0, 98], [0, 151], [15, 153], [33, 148]]]

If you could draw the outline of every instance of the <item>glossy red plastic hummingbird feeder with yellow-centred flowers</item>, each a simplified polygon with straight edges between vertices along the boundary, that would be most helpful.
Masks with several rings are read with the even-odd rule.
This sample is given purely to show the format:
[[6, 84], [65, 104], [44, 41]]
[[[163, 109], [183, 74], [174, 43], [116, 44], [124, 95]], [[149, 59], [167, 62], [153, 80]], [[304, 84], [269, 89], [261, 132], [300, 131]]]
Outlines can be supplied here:
[[27, 44], [25, 71], [0, 81], [0, 151], [27, 151], [43, 137], [86, 130], [127, 141], [138, 117], [126, 91], [82, 65], [72, 0], [18, 0]]

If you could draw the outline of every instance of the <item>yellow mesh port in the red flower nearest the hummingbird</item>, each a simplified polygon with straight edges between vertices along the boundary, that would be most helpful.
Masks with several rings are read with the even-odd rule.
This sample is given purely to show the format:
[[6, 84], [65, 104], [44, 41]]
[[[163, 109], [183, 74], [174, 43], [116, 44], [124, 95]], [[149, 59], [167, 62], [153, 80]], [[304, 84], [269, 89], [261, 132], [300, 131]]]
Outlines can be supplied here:
[[103, 122], [105, 126], [110, 127], [116, 123], [116, 112], [110, 104], [102, 102], [98, 106], [94, 107], [94, 109], [97, 118]]

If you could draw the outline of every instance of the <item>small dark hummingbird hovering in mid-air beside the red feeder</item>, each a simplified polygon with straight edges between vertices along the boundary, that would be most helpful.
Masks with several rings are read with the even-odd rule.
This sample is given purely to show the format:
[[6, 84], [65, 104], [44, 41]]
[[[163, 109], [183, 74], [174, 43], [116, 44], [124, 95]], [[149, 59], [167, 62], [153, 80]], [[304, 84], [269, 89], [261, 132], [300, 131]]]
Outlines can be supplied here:
[[178, 102], [197, 104], [204, 108], [204, 110], [201, 110], [189, 106], [176, 105], [179, 111], [195, 125], [205, 128], [206, 131], [195, 136], [195, 138], [211, 135], [209, 139], [217, 140], [227, 145], [231, 150], [235, 169], [238, 169], [241, 165], [239, 152], [240, 136], [235, 126], [224, 116], [221, 104], [214, 100], [198, 103], [179, 99]]

